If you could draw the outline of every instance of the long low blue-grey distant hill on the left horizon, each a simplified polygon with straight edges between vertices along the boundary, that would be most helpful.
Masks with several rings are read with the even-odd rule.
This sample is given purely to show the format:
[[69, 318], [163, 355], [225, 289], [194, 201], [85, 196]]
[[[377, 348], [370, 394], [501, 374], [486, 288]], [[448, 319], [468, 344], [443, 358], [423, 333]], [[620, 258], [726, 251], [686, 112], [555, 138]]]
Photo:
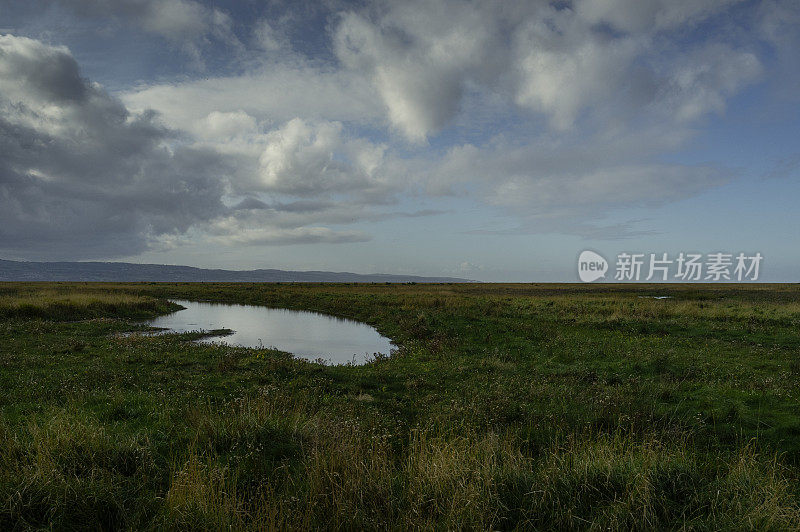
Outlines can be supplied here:
[[335, 282], [468, 283], [456, 277], [418, 277], [385, 273], [295, 272], [286, 270], [206, 270], [192, 266], [127, 262], [20, 262], [0, 260], [0, 281], [171, 281], [171, 282]]

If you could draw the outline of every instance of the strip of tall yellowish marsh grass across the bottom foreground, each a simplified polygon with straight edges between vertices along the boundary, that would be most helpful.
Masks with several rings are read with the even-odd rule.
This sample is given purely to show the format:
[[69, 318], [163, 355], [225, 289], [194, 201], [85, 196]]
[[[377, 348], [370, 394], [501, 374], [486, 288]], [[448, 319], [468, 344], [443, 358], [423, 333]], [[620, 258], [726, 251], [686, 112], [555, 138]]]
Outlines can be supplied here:
[[[75, 412], [29, 425], [24, 442], [2, 441], [6, 524], [784, 530], [800, 519], [785, 468], [748, 444], [710, 452], [685, 434], [585, 432], [531, 453], [509, 432], [440, 429], [396, 446], [354, 420], [263, 397], [237, 403], [225, 416], [194, 413], [192, 444], [176, 451], [166, 481], [150, 476], [146, 442], [109, 438]], [[260, 454], [258, 442], [269, 470], [244, 459]]]

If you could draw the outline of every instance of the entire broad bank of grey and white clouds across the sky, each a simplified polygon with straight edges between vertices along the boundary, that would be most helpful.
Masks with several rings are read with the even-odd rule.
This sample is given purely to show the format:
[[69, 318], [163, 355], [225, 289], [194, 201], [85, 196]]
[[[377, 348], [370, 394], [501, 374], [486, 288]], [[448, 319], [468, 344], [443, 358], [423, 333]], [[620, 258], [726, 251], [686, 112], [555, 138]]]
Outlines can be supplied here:
[[520, 230], [597, 237], [608, 213], [735, 175], [669, 155], [785, 62], [799, 11], [333, 2], [306, 10], [323, 18], [315, 55], [292, 4], [257, 20], [194, 0], [55, 4], [198, 61], [227, 50], [232, 66], [112, 94], [58, 43], [0, 36], [0, 242], [31, 257], [363, 242], [369, 223], [410, 214], [398, 204], [447, 196]]

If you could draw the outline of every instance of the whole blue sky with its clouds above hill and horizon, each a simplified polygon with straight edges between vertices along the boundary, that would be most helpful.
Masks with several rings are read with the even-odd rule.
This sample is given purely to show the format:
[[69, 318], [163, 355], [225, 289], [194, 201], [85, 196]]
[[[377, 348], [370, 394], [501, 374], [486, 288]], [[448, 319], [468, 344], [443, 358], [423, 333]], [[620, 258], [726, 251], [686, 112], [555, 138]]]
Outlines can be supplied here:
[[0, 0], [0, 258], [800, 281], [800, 2]]

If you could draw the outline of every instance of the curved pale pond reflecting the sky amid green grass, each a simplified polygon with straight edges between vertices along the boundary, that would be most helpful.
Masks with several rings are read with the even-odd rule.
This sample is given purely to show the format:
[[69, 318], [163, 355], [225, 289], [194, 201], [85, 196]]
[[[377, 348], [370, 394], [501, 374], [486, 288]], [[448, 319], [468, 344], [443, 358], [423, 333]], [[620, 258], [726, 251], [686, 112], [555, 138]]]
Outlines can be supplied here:
[[307, 360], [364, 364], [394, 346], [369, 325], [317, 312], [175, 300], [184, 310], [147, 322], [174, 332], [231, 329], [233, 334], [200, 342], [241, 347], [274, 347]]

